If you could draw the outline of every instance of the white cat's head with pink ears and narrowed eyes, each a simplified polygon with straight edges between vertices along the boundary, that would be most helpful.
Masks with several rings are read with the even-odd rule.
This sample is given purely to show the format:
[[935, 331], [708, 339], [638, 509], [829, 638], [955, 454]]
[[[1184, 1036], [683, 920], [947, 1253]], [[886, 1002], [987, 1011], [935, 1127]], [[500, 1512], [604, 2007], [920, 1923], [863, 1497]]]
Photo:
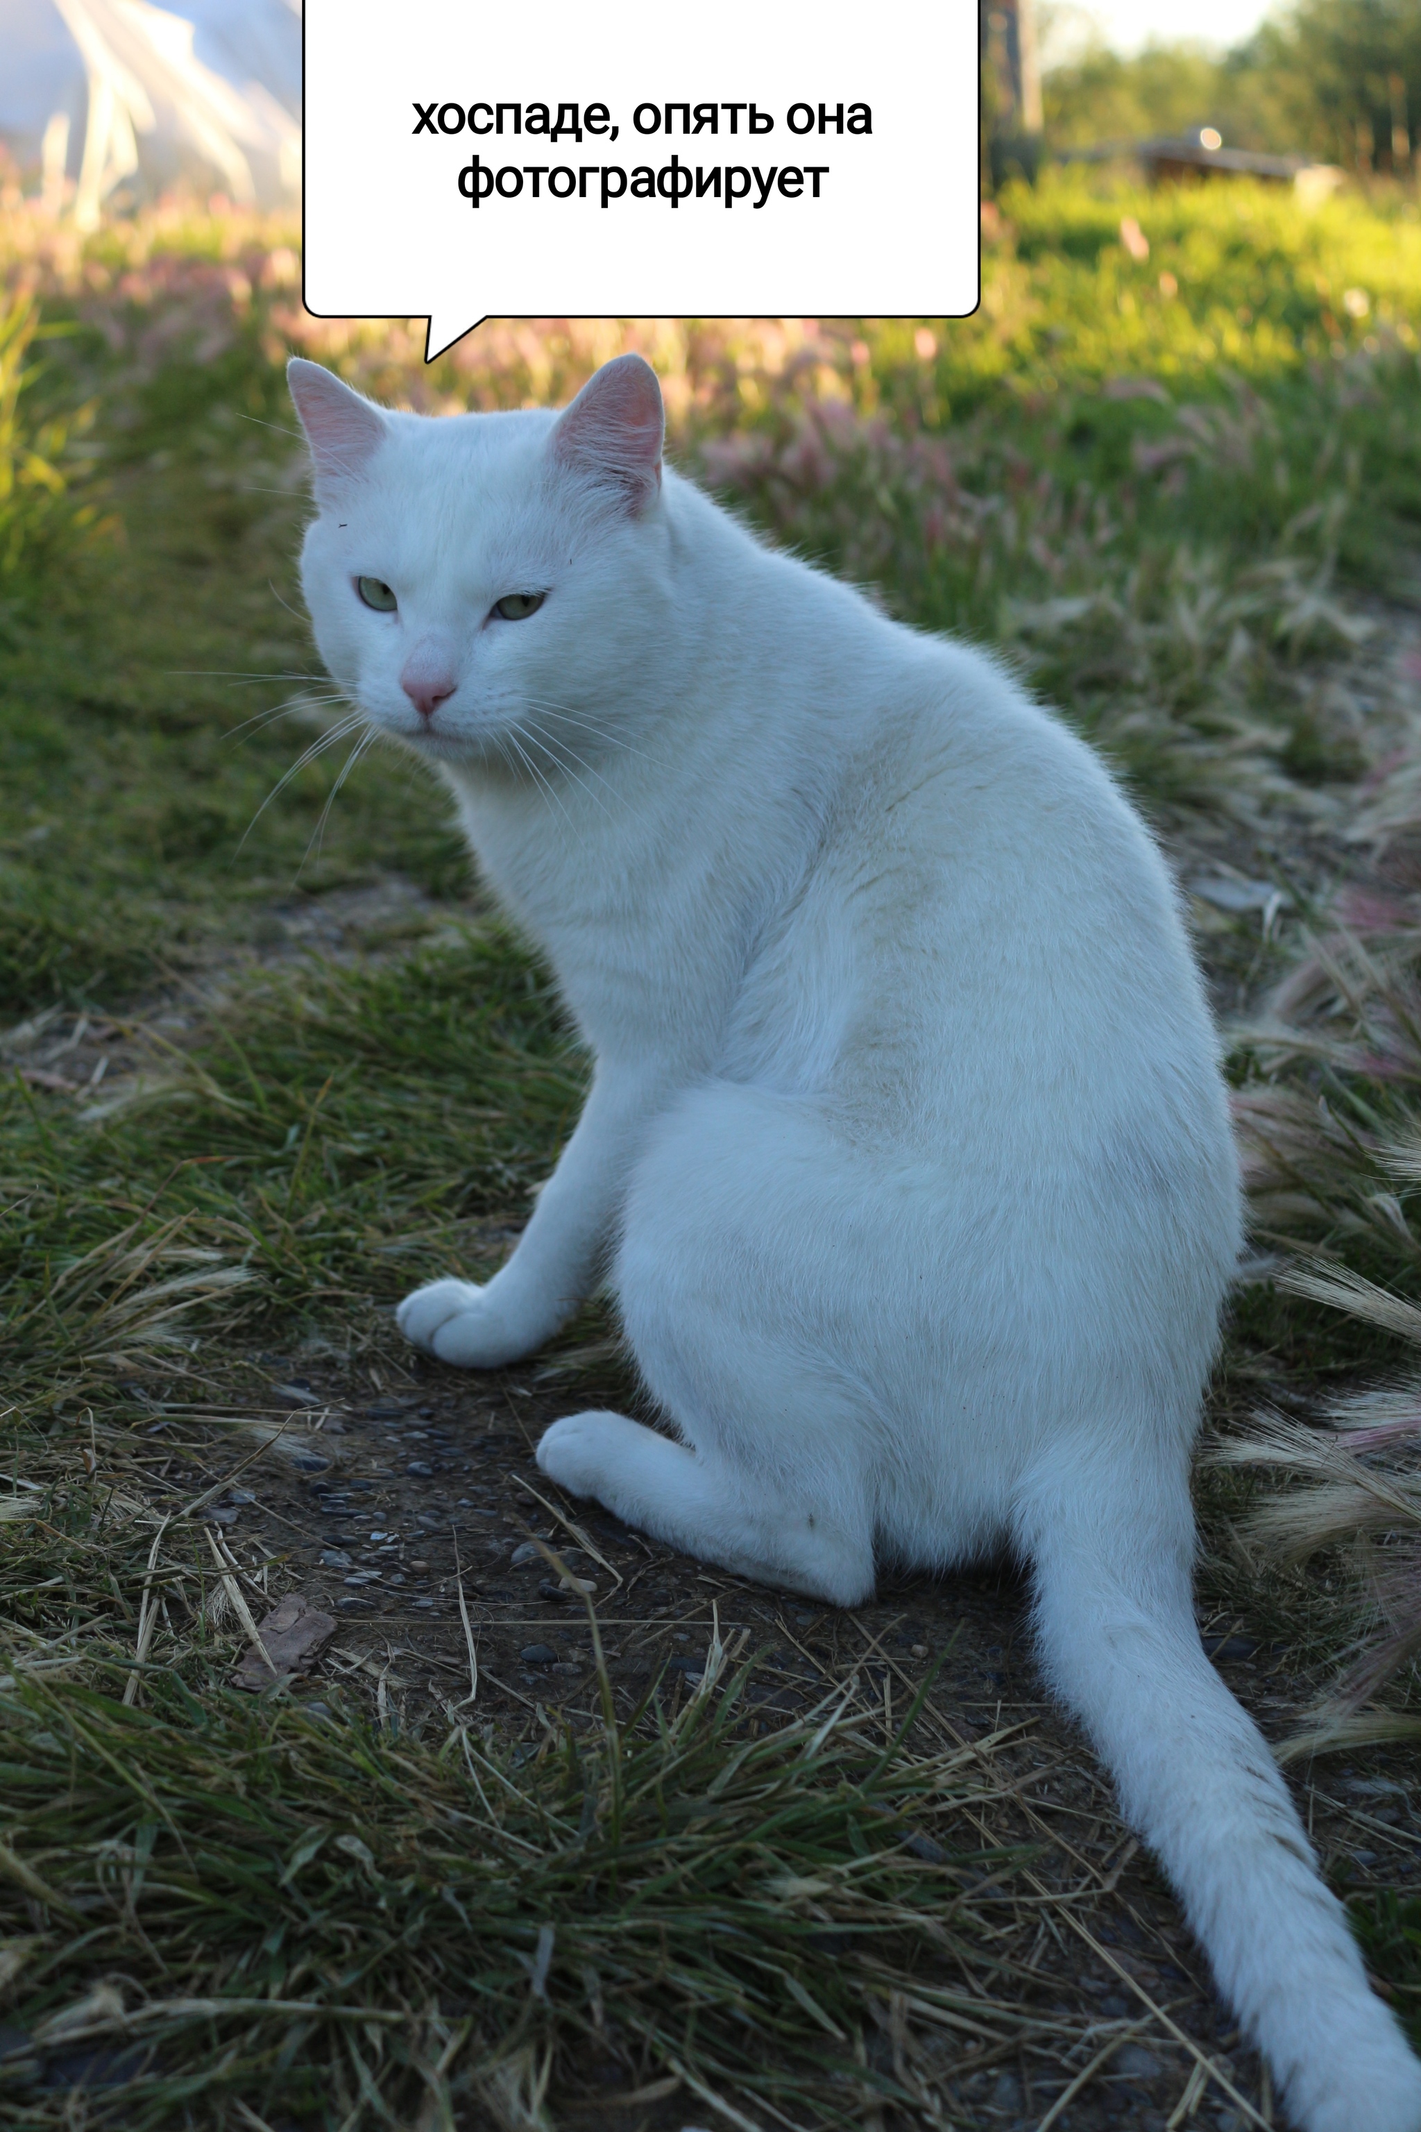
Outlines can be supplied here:
[[371, 723], [450, 763], [597, 753], [671, 601], [650, 365], [618, 356], [562, 414], [394, 414], [300, 358], [288, 379], [315, 473], [303, 588]]

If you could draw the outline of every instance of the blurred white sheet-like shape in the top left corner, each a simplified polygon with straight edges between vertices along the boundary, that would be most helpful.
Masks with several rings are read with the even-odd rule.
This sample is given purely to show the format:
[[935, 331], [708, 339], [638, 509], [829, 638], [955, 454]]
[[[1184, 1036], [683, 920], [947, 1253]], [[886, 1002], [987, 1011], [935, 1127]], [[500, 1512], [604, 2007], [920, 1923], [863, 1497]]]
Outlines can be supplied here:
[[124, 181], [294, 198], [300, 0], [0, 0], [0, 136], [87, 228]]

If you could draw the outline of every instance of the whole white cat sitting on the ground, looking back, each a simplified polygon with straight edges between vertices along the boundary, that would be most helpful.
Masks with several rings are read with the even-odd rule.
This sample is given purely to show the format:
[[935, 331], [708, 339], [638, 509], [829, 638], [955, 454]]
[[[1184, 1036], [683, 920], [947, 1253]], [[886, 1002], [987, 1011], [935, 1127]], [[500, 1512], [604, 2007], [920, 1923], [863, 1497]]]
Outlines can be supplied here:
[[597, 1060], [507, 1266], [407, 1296], [407, 1337], [496, 1369], [609, 1269], [673, 1433], [556, 1422], [569, 1492], [837, 1605], [876, 1558], [1016, 1548], [1295, 2123], [1417, 2132], [1421, 2066], [1195, 1627], [1240, 1205], [1146, 829], [980, 652], [663, 473], [639, 356], [560, 416], [290, 382], [326, 665], [441, 765]]

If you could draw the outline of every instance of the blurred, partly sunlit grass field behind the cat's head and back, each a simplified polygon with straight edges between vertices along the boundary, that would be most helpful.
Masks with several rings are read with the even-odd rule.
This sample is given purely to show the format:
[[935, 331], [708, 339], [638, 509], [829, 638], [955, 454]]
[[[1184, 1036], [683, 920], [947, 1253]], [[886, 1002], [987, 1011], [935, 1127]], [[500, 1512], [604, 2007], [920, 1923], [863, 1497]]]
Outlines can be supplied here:
[[680, 465], [905, 620], [993, 644], [1157, 821], [1317, 819], [1370, 761], [1327, 672], [1372, 627], [1357, 601], [1417, 569], [1402, 185], [1304, 205], [1048, 168], [989, 203], [965, 320], [507, 320], [435, 365], [418, 320], [311, 318], [298, 243], [196, 200], [83, 235], [6, 198], [15, 1013], [128, 996], [381, 872], [469, 891], [418, 765], [358, 765], [324, 814], [341, 706], [296, 612], [292, 350], [432, 414], [565, 401], [641, 350]]

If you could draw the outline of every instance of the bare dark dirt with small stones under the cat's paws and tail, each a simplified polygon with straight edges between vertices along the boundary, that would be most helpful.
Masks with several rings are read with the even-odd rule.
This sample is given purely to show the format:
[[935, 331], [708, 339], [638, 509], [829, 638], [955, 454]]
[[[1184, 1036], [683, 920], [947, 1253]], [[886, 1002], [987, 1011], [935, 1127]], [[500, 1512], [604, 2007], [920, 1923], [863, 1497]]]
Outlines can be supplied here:
[[[537, 1541], [588, 1586], [620, 1716], [648, 1693], [667, 1706], [690, 1693], [716, 1627], [726, 1644], [744, 1635], [746, 1654], [761, 1654], [750, 1699], [763, 1723], [803, 1712], [856, 1676], [861, 1701], [882, 1712], [886, 1733], [940, 1661], [912, 1744], [935, 1753], [976, 1742], [1001, 1793], [984, 1842], [1040, 1846], [1031, 1863], [1038, 1908], [1016, 1919], [1003, 1949], [1027, 1972], [1023, 2000], [1087, 2019], [1097, 2047], [1114, 2047], [1052, 2121], [1138, 2132], [1270, 2121], [1257, 2060], [1216, 2004], [1172, 1895], [1121, 1827], [1091, 1750], [1042, 1697], [1025, 1590], [1010, 1569], [884, 1580], [876, 1601], [854, 1612], [786, 1601], [648, 1544], [545, 1482], [533, 1463], [539, 1431], [594, 1399], [594, 1386], [558, 1394], [537, 1367], [471, 1379], [413, 1354], [403, 1369], [386, 1360], [356, 1373], [279, 1354], [260, 1362], [271, 1394], [247, 1416], [288, 1426], [213, 1514], [254, 1610], [264, 1590], [298, 1588], [339, 1622], [300, 1695], [332, 1718], [352, 1699], [379, 1699], [401, 1725], [441, 1718], [456, 1703], [469, 1721], [473, 1637], [475, 1723], [530, 1744], [562, 1718], [592, 1725], [584, 1593], [567, 1588]], [[177, 1409], [173, 1418], [156, 1411], [156, 1445], [177, 1420]], [[192, 1409], [181, 1420], [190, 1424]], [[224, 1456], [228, 1467], [239, 1463], [230, 1445]], [[190, 1465], [153, 1473], [183, 1490], [196, 1477]], [[1229, 1686], [1270, 1735], [1287, 1731], [1317, 1682], [1295, 1678], [1287, 1652], [1261, 1648], [1238, 1622], [1219, 1618], [1206, 1629]], [[1334, 1765], [1304, 1778], [1304, 1812], [1323, 1859], [1346, 1859], [1357, 1887], [1417, 1876], [1406, 1793], [1387, 1782], [1372, 1763], [1361, 1778]], [[916, 2077], [971, 2123], [1038, 2126], [1082, 2070], [1016, 2053], [963, 2074], [959, 2047], [912, 2034]], [[891, 2040], [884, 2051], [891, 2064]], [[1257, 2119], [1204, 2079], [1204, 2062]], [[628, 2132], [684, 2119], [686, 2098], [675, 2096], [631, 2113], [603, 2106], [597, 2117], [624, 2121]]]

